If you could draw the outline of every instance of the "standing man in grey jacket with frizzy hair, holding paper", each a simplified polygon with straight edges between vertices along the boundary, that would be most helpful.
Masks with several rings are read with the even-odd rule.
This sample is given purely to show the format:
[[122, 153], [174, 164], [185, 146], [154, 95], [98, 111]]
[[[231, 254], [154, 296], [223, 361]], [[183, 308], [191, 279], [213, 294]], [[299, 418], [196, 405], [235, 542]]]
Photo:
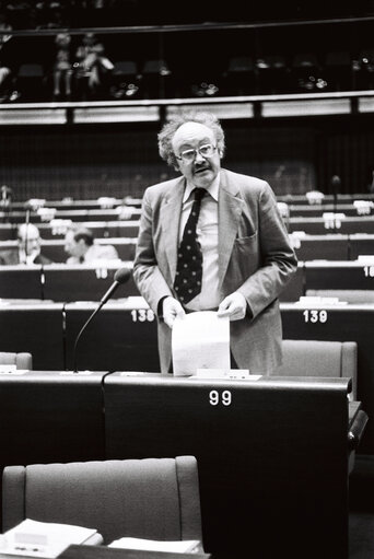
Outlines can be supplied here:
[[[224, 133], [212, 114], [175, 117], [159, 133], [159, 151], [182, 177], [144, 193], [133, 277], [159, 317], [161, 371], [171, 372], [176, 316], [217, 310], [231, 321], [232, 366], [270, 373], [281, 362], [278, 296], [297, 264], [273, 191], [265, 180], [221, 168]], [[200, 202], [195, 189], [198, 198], [203, 193]], [[195, 203], [196, 244], [194, 223], [184, 231]], [[196, 246], [201, 255], [188, 258]], [[201, 256], [202, 273], [194, 264]], [[201, 273], [197, 286], [188, 270]]]

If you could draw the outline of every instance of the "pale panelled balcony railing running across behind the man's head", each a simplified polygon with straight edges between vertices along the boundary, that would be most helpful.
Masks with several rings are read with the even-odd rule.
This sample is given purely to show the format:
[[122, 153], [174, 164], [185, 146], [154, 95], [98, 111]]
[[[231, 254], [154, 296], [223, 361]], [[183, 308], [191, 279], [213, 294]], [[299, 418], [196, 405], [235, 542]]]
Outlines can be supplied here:
[[186, 109], [221, 119], [290, 118], [374, 113], [374, 90], [214, 98], [4, 103], [0, 125], [162, 121]]

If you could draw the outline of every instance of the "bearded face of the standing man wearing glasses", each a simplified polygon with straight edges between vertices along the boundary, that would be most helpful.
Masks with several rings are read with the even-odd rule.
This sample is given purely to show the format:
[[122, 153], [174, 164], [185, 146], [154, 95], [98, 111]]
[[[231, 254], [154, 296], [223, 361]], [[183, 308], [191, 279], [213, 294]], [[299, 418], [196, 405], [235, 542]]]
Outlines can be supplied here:
[[[172, 145], [177, 158], [184, 154], [177, 161], [179, 171], [187, 180], [198, 188], [208, 188], [221, 168], [221, 154], [213, 130], [199, 123], [185, 123], [175, 132]], [[212, 149], [207, 150], [207, 145]], [[198, 151], [200, 148], [202, 153]], [[204, 155], [207, 151], [211, 153]]]

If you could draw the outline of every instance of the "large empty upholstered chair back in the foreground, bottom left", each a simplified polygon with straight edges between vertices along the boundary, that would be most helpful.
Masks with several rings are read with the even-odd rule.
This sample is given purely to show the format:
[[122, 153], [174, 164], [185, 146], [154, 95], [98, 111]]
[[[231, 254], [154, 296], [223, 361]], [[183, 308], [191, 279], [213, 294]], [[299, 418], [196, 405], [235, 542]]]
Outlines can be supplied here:
[[4, 531], [27, 517], [96, 528], [105, 544], [202, 539], [194, 456], [8, 466], [2, 511]]

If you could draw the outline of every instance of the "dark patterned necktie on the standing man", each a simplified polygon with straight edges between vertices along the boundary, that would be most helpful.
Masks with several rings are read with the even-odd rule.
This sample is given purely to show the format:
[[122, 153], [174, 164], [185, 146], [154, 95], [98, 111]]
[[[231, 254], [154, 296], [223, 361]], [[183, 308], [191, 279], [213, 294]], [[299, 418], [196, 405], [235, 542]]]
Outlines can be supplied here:
[[202, 253], [197, 240], [196, 225], [199, 219], [204, 188], [195, 188], [195, 200], [178, 248], [178, 261], [174, 289], [182, 303], [186, 304], [201, 291]]

